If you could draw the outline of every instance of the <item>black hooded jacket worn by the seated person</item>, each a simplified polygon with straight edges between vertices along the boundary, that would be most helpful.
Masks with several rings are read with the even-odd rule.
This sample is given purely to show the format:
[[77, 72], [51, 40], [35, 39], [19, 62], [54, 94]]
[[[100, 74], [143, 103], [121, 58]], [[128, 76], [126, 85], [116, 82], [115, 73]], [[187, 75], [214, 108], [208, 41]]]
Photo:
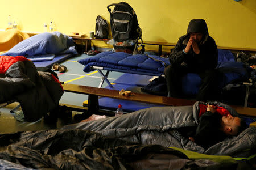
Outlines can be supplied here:
[[[200, 53], [195, 54], [193, 48], [187, 54], [183, 52], [186, 48], [191, 32], [203, 33], [203, 38], [198, 44]], [[169, 57], [171, 65], [186, 65], [191, 71], [204, 71], [214, 69], [218, 62], [217, 45], [209, 36], [207, 24], [203, 19], [192, 19], [189, 22], [187, 34], [179, 38], [175, 48]]]

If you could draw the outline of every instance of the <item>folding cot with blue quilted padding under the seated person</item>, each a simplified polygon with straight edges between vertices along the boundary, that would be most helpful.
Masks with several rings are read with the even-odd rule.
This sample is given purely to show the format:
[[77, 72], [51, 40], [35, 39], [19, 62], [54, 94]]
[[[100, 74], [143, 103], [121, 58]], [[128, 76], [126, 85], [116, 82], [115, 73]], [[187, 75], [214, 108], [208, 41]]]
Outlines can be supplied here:
[[[109, 87], [112, 84], [108, 81], [110, 71], [118, 71], [121, 73], [131, 73], [150, 76], [164, 76], [164, 68], [170, 64], [168, 58], [162, 58], [155, 55], [138, 54], [131, 55], [123, 52], [102, 52], [93, 57], [88, 57], [78, 61], [85, 65], [84, 71], [90, 72], [97, 70], [101, 76], [101, 82], [98, 87], [102, 87], [104, 81]], [[247, 82], [251, 77], [252, 69], [246, 66], [245, 63], [236, 62], [236, 58], [229, 50], [218, 49], [218, 66], [220, 70], [219, 87], [223, 88], [230, 83]], [[106, 70], [104, 74], [102, 70]], [[127, 82], [129, 84], [129, 79]], [[195, 73], [188, 73], [182, 78], [183, 92], [185, 95], [193, 96], [199, 91], [201, 78]], [[248, 94], [247, 90], [246, 94]], [[245, 99], [247, 105], [247, 97]]]

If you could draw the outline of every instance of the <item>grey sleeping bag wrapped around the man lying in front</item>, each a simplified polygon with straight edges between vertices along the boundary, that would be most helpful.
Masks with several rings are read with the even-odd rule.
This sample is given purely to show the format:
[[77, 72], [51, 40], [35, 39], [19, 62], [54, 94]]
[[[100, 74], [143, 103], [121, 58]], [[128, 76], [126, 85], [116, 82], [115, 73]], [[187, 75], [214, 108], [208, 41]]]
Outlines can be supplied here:
[[199, 121], [199, 104], [213, 104], [224, 107], [233, 116], [238, 116], [236, 110], [219, 102], [203, 103], [197, 101], [193, 106], [186, 107], [151, 107], [121, 117], [108, 117], [101, 120], [81, 122], [64, 126], [63, 129], [84, 129], [96, 131], [106, 137], [123, 139], [143, 145], [162, 145], [178, 147], [185, 150], [210, 155], [236, 155], [245, 150], [256, 148], [256, 128], [250, 127], [237, 137], [226, 138], [225, 141], [204, 149], [189, 141], [180, 128], [195, 127]]

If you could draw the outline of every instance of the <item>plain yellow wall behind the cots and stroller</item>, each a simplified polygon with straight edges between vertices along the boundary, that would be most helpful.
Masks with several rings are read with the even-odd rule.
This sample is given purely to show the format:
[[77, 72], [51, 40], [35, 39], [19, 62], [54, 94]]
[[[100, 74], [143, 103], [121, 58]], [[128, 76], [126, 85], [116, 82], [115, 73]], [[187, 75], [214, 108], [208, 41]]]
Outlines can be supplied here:
[[[56, 31], [89, 34], [97, 15], [109, 20], [110, 0], [9, 0], [0, 1], [0, 29], [8, 15], [22, 31], [43, 32], [43, 23]], [[256, 0], [128, 0], [137, 13], [144, 41], [177, 42], [189, 20], [203, 18], [219, 46], [256, 48]]]

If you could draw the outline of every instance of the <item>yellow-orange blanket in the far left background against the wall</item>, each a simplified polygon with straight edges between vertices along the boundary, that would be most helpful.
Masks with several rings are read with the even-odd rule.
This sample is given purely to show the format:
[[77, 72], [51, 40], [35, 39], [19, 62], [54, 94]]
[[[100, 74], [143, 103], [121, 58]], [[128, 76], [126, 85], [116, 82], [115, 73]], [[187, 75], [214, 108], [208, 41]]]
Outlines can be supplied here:
[[14, 45], [29, 37], [27, 33], [21, 32], [18, 29], [8, 29], [0, 32], [0, 54], [10, 50]]

